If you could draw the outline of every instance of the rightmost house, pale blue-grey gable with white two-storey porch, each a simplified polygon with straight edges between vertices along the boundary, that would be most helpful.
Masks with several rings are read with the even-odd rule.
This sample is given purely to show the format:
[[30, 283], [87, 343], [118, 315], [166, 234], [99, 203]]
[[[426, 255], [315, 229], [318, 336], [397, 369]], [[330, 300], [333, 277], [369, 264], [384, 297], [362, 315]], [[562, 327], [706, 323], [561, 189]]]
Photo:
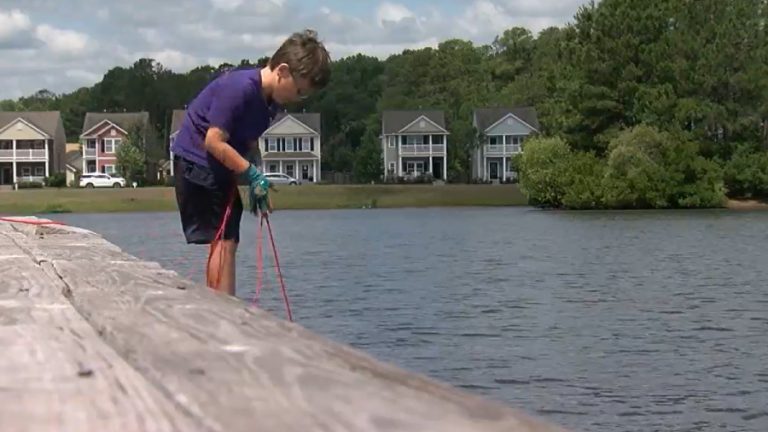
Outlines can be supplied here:
[[472, 177], [491, 182], [517, 178], [510, 158], [523, 151], [523, 142], [539, 132], [533, 107], [478, 108], [472, 124], [479, 142], [472, 155]]

